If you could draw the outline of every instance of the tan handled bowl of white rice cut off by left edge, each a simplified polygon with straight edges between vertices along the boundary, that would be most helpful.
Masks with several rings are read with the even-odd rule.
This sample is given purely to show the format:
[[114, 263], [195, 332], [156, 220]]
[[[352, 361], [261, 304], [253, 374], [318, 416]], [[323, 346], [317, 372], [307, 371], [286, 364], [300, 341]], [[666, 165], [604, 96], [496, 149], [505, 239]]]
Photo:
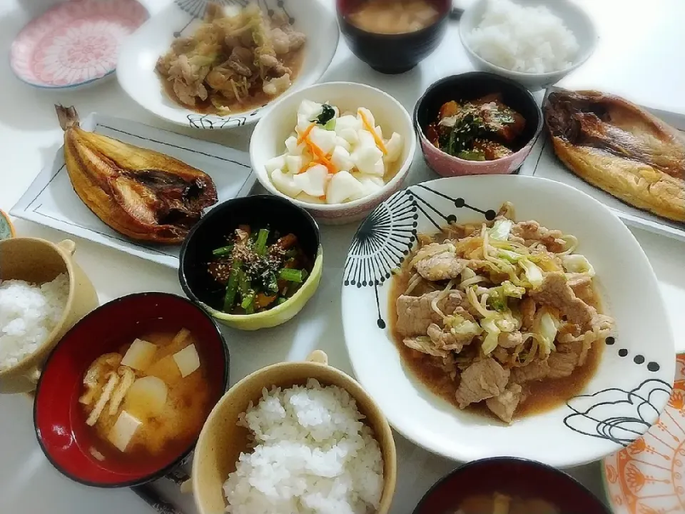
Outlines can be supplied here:
[[50, 351], [98, 306], [73, 241], [0, 241], [0, 393], [34, 390]]

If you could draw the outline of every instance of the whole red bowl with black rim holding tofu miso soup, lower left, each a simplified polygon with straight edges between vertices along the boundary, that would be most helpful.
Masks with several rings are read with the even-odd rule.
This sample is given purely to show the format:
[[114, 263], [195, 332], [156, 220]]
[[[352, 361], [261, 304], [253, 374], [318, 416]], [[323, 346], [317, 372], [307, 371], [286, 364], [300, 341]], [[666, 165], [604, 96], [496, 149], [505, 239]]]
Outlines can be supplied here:
[[201, 308], [138, 293], [83, 318], [46, 361], [36, 388], [41, 449], [96, 487], [140, 485], [190, 455], [228, 384], [228, 351]]

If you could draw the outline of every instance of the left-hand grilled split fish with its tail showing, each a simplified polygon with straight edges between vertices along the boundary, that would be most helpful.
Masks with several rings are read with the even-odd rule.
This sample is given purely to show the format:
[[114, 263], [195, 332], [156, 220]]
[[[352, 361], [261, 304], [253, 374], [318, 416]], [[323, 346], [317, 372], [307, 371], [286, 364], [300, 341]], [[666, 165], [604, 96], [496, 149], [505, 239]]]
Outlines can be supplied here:
[[178, 244], [217, 201], [210, 176], [175, 158], [78, 126], [55, 106], [73, 190], [104, 223], [138, 241]]

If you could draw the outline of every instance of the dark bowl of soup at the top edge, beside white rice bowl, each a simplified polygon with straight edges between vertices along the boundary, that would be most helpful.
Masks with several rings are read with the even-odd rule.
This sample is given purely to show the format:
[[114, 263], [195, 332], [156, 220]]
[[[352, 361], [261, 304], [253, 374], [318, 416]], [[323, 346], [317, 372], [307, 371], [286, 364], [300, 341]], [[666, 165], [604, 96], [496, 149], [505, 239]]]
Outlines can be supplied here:
[[337, 0], [352, 52], [376, 71], [409, 71], [445, 36], [452, 0]]

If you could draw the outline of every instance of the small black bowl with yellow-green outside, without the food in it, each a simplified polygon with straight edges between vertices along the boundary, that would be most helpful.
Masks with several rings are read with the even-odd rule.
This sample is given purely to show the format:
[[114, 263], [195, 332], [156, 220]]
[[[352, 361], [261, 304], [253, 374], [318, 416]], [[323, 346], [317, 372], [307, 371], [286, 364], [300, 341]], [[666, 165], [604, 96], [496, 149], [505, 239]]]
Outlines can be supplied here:
[[[284, 235], [293, 233], [313, 262], [312, 271], [300, 289], [287, 301], [268, 311], [228, 314], [218, 310], [223, 305], [225, 288], [221, 288], [209, 275], [207, 263], [212, 260], [213, 249], [224, 246], [226, 236], [233, 233], [238, 225], [269, 226]], [[221, 203], [193, 227], [181, 247], [178, 279], [188, 298], [216, 321], [240, 330], [255, 331], [278, 326], [299, 313], [316, 292], [322, 273], [323, 246], [319, 228], [309, 213], [283, 198], [255, 195]]]

